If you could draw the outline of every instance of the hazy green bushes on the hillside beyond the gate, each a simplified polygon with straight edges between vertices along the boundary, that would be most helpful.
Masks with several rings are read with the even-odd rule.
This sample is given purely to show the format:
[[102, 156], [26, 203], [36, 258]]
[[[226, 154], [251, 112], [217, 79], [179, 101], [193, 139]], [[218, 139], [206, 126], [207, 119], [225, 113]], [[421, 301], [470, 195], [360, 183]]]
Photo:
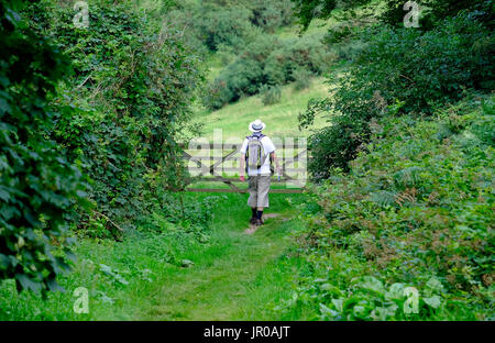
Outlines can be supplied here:
[[298, 69], [319, 75], [330, 60], [318, 37], [276, 37], [294, 20], [289, 0], [186, 1], [172, 15], [190, 26], [197, 51], [227, 65], [201, 92], [209, 110], [255, 95], [263, 85], [292, 82]]

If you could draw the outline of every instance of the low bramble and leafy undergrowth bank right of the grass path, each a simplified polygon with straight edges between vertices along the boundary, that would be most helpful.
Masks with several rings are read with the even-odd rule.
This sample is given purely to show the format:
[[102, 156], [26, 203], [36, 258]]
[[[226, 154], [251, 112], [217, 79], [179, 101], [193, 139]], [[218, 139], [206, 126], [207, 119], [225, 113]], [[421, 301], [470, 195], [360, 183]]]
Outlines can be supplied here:
[[[493, 320], [493, 101], [372, 122], [369, 152], [304, 207], [315, 269], [299, 305], [330, 320]], [[416, 314], [403, 311], [409, 286]]]

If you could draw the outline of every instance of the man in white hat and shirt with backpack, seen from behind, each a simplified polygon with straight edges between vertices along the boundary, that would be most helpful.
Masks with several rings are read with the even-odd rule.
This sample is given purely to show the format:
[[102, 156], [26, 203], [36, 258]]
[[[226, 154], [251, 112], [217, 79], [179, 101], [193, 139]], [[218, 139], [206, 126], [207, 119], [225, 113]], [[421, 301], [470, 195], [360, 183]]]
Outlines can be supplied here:
[[252, 212], [250, 223], [254, 225], [264, 223], [263, 211], [270, 206], [268, 191], [273, 163], [276, 165], [278, 176], [282, 175], [275, 145], [268, 136], [262, 133], [265, 128], [266, 124], [260, 119], [250, 123], [249, 130], [252, 134], [245, 137], [241, 146], [239, 178], [241, 181], [245, 181], [245, 172], [248, 172], [250, 192], [248, 206], [251, 207]]

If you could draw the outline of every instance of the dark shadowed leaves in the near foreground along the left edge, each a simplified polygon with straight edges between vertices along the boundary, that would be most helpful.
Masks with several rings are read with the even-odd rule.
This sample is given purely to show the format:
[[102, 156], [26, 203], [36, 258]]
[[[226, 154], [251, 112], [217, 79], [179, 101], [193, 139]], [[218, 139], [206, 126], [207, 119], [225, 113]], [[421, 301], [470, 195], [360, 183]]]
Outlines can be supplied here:
[[72, 256], [68, 221], [85, 186], [50, 139], [61, 114], [51, 100], [69, 64], [25, 27], [21, 9], [21, 1], [0, 1], [0, 280], [56, 290], [56, 275], [68, 268], [64, 256]]

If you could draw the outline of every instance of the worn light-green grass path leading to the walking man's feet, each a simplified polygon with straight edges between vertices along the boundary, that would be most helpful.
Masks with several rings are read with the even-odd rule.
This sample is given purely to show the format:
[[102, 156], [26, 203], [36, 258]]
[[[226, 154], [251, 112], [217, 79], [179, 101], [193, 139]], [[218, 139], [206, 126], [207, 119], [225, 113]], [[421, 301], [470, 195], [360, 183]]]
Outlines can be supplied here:
[[301, 263], [285, 254], [290, 245], [288, 233], [294, 229], [293, 214], [286, 211], [270, 218], [265, 225], [249, 235], [245, 232], [249, 213], [243, 218], [248, 208], [241, 209], [238, 203], [231, 210], [234, 220], [227, 221], [216, 213], [212, 233], [216, 243], [189, 255], [195, 265], [170, 275], [157, 288], [152, 307], [140, 313], [140, 318], [282, 319], [273, 318], [271, 309], [280, 299], [290, 297], [292, 278]]

